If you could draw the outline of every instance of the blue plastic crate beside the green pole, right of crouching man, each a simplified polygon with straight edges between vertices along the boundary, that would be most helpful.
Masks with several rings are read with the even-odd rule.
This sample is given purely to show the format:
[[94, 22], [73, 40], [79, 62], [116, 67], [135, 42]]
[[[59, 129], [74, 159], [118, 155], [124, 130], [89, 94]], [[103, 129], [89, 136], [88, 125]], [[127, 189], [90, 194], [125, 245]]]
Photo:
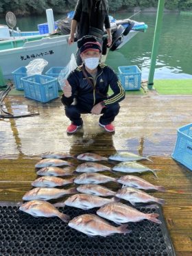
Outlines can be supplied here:
[[141, 70], [137, 66], [118, 67], [121, 84], [125, 91], [141, 88]]

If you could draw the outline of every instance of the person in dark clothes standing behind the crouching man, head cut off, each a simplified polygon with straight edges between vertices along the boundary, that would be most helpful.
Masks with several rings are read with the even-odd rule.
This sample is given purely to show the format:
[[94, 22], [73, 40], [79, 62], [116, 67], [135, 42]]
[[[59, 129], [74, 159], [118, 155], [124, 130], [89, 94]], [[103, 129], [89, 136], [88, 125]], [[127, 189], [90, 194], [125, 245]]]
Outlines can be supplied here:
[[[71, 33], [68, 40], [69, 45], [74, 42], [75, 37], [80, 39], [86, 35], [97, 36], [97, 40], [102, 45], [104, 26], [108, 34], [107, 45], [110, 47], [112, 44], [112, 35], [110, 32], [110, 20], [108, 16], [108, 1], [78, 0], [71, 22]], [[82, 64], [80, 49], [77, 50], [76, 61], [77, 65]]]

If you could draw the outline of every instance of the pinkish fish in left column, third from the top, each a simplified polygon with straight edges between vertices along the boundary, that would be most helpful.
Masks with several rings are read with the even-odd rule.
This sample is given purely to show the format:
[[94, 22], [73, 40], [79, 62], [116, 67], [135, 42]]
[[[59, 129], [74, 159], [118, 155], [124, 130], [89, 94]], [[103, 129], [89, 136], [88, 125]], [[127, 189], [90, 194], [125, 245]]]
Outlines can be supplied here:
[[36, 173], [40, 176], [67, 176], [73, 174], [73, 168], [71, 167], [43, 167]]

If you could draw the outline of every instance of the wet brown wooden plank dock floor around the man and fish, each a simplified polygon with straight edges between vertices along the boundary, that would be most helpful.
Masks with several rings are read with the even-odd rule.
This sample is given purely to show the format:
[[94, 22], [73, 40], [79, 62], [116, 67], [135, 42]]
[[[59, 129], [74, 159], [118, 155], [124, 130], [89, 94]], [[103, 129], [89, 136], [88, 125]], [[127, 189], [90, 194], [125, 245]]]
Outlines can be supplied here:
[[[191, 244], [191, 200], [192, 172], [171, 159], [176, 142], [176, 130], [191, 121], [191, 96], [139, 96], [130, 95], [121, 104], [115, 119], [115, 135], [104, 132], [98, 125], [98, 117], [83, 115], [84, 128], [77, 134], [68, 136], [65, 132], [69, 120], [64, 116], [60, 100], [41, 104], [24, 97], [8, 97], [5, 106], [9, 112], [39, 112], [38, 117], [0, 120], [0, 201], [19, 202], [23, 194], [32, 189], [36, 179], [34, 165], [45, 152], [70, 152], [80, 154], [95, 152], [109, 156], [117, 150], [128, 150], [149, 156], [154, 162], [140, 161], [156, 172], [135, 174], [154, 185], [163, 185], [166, 192], [149, 191], [166, 200], [163, 213], [167, 228], [176, 250], [176, 255], [188, 256]], [[75, 166], [82, 163], [69, 159]], [[102, 161], [112, 167], [115, 162]], [[111, 176], [125, 173], [102, 172]], [[78, 175], [78, 174], [75, 174]], [[65, 186], [68, 188], [70, 185]], [[117, 183], [106, 183], [106, 187], [116, 191]], [[64, 200], [54, 200], [58, 202]]]

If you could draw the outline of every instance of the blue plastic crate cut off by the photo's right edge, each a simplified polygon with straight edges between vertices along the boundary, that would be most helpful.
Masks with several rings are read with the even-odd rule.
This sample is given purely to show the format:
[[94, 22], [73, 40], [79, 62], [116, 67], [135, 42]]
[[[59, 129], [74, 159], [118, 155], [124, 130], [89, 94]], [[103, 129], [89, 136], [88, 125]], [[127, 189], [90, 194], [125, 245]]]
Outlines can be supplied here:
[[173, 159], [192, 170], [192, 124], [178, 128]]

